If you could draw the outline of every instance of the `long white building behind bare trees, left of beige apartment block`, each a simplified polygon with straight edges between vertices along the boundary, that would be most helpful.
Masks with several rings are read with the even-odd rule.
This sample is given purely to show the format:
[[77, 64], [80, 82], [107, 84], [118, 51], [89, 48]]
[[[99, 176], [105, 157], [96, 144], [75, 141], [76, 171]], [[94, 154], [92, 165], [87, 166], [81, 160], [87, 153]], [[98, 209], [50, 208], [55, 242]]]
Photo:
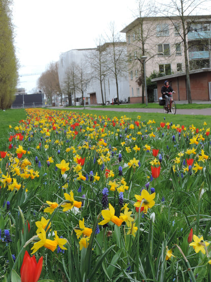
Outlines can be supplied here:
[[[124, 48], [126, 54], [126, 43], [120, 43], [121, 48]], [[102, 45], [104, 50], [111, 49], [109, 43]], [[96, 68], [93, 68], [93, 58], [98, 52], [97, 48], [90, 49], [74, 49], [67, 52], [61, 53], [59, 57], [59, 84], [61, 90], [65, 88], [68, 69], [75, 64], [75, 67], [80, 66], [84, 70], [84, 98], [87, 104], [101, 104], [102, 95], [99, 81], [99, 75], [97, 74]], [[105, 68], [104, 68], [105, 69]], [[114, 76], [105, 70], [103, 74], [102, 90], [103, 90], [103, 102], [112, 103], [117, 97], [116, 81]], [[125, 75], [118, 76], [118, 89], [119, 89], [119, 100], [127, 101], [129, 97], [129, 83], [127, 79], [127, 73]], [[65, 92], [65, 91], [63, 91]], [[65, 98], [63, 99], [65, 101]], [[72, 92], [72, 101], [75, 104], [74, 93]], [[82, 92], [76, 89], [76, 104], [83, 104]]]

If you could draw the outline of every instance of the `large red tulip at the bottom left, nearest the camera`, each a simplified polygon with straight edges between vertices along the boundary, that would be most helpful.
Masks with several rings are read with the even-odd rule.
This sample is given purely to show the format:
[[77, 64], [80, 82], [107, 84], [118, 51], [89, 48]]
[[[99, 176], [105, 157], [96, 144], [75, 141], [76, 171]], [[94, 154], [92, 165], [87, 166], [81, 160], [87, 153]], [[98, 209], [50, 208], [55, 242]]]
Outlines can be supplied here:
[[30, 257], [27, 250], [20, 269], [21, 282], [37, 282], [43, 267], [43, 257], [37, 263], [36, 258]]

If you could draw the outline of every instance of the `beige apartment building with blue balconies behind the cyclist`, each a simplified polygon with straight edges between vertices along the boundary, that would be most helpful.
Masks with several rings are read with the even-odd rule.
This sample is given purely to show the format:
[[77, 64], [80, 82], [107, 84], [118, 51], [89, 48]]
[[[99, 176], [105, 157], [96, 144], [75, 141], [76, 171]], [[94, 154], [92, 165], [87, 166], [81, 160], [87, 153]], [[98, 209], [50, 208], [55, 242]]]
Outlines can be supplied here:
[[[185, 25], [190, 71], [202, 68], [209, 69], [211, 67], [211, 15], [189, 16], [186, 18]], [[159, 81], [164, 81], [172, 75], [174, 78], [182, 74], [185, 76], [184, 44], [180, 36], [183, 37], [183, 30], [180, 17], [137, 18], [121, 32], [126, 34], [127, 40], [131, 103], [142, 101], [143, 55], [147, 56], [147, 77], [153, 72], [163, 76], [163, 78], [158, 79]], [[208, 82], [211, 81], [209, 79], [209, 76], [207, 76], [207, 91]], [[154, 81], [157, 80], [154, 79]], [[179, 86], [177, 85], [177, 87]], [[181, 97], [186, 98], [186, 95]], [[206, 98], [203, 100], [206, 100]]]

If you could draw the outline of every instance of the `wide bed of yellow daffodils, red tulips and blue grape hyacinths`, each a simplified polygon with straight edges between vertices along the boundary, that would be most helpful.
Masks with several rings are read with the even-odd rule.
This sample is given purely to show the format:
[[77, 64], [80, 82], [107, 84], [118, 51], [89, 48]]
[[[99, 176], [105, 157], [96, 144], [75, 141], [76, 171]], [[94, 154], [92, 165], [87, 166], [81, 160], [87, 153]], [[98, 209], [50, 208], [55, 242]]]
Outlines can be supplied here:
[[206, 123], [26, 111], [1, 151], [2, 279], [210, 277]]

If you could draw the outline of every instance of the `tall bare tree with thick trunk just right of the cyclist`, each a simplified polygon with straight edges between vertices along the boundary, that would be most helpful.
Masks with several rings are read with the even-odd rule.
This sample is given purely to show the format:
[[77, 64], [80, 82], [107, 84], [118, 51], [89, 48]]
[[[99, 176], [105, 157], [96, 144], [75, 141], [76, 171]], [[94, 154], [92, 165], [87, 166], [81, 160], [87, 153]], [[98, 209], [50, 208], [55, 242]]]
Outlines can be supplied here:
[[[190, 87], [190, 71], [189, 71], [189, 59], [188, 59], [188, 33], [190, 32], [191, 25], [197, 22], [196, 13], [204, 7], [204, 4], [208, 3], [200, 0], [170, 0], [168, 3], [159, 3], [162, 7], [162, 14], [171, 20], [175, 31], [180, 36], [181, 42], [184, 47], [185, 57], [185, 71], [186, 71], [186, 85], [188, 103], [192, 103], [191, 87]], [[195, 15], [194, 15], [195, 14]], [[177, 19], [175, 19], [177, 16]]]

